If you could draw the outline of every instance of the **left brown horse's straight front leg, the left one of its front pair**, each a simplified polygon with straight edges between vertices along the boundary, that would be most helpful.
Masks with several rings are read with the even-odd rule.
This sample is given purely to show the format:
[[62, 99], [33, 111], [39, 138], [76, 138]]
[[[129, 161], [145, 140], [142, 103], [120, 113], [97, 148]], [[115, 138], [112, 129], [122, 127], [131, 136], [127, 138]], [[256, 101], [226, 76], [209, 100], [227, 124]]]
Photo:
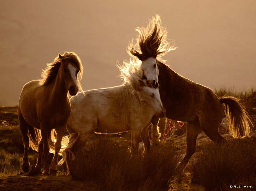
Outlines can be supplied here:
[[49, 145], [48, 145], [48, 138], [50, 137], [51, 129], [47, 129], [46, 127], [41, 125], [41, 136], [43, 141], [43, 175], [48, 174], [49, 172]]

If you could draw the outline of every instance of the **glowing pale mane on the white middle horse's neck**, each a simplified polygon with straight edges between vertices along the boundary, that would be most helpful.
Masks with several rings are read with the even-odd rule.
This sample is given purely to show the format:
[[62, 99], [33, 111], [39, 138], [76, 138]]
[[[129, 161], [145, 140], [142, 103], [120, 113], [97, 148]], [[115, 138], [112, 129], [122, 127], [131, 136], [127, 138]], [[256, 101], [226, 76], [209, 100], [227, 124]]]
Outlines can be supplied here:
[[123, 84], [129, 84], [134, 91], [138, 91], [140, 88], [138, 80], [141, 80], [143, 74], [142, 69], [140, 69], [141, 61], [132, 57], [123, 63], [123, 66], [117, 65], [121, 72], [119, 76], [124, 80]]

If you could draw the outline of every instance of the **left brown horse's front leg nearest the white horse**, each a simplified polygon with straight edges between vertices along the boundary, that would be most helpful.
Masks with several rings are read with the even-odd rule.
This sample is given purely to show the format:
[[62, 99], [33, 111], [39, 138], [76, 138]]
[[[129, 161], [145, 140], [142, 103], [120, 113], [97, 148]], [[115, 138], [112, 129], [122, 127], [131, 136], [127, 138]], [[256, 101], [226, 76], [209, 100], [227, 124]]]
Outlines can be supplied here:
[[50, 166], [50, 170], [49, 170], [49, 174], [54, 175], [54, 176], [57, 174], [57, 163], [58, 163], [59, 150], [61, 149], [61, 140], [62, 140], [62, 137], [63, 137], [66, 127], [67, 127], [67, 124], [56, 129], [57, 139], [56, 139], [56, 143], [54, 146], [55, 153], [54, 153], [54, 157], [51, 161], [51, 166]]

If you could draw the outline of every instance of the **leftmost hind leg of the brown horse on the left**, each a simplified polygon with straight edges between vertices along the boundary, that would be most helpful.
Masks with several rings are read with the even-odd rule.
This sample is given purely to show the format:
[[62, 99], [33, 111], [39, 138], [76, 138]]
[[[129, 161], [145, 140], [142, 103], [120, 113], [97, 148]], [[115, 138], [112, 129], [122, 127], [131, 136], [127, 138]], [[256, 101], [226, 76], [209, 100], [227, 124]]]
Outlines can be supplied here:
[[29, 156], [28, 156], [28, 149], [29, 149], [29, 137], [28, 137], [28, 126], [29, 124], [24, 120], [20, 109], [18, 108], [18, 118], [19, 118], [19, 127], [22, 133], [22, 141], [24, 145], [24, 156], [22, 158], [22, 170], [27, 173], [29, 171]]

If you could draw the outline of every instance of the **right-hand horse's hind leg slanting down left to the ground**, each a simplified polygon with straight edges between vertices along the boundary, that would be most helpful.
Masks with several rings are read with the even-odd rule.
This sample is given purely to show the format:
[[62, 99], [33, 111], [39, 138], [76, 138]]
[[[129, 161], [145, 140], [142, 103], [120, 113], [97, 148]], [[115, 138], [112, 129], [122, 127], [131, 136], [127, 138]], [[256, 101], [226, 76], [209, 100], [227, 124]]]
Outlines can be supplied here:
[[186, 154], [179, 166], [177, 167], [178, 173], [182, 172], [185, 166], [187, 165], [191, 156], [195, 153], [196, 150], [196, 140], [198, 134], [202, 131], [199, 123], [187, 123], [187, 147]]

